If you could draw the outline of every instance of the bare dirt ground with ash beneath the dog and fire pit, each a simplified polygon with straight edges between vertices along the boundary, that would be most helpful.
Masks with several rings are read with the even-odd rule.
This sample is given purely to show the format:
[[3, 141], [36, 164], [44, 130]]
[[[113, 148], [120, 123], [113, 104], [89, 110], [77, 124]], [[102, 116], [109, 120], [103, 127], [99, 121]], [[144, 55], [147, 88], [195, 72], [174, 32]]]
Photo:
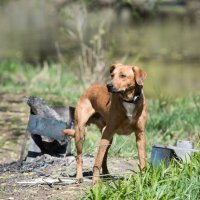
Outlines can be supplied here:
[[[29, 108], [23, 94], [0, 94], [0, 200], [80, 199], [91, 186], [94, 157], [84, 157], [84, 183], [75, 182], [75, 157], [37, 157], [33, 162], [18, 159], [28, 122]], [[137, 168], [134, 160], [109, 158], [110, 173], [120, 177]], [[115, 178], [116, 178], [115, 177]], [[53, 182], [52, 182], [53, 181]]]

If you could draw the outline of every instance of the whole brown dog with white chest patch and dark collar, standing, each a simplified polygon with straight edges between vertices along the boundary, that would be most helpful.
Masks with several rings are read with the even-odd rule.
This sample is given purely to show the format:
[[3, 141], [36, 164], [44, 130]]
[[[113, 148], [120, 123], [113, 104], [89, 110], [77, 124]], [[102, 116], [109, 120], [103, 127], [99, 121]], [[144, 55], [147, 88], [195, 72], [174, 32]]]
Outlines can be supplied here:
[[75, 130], [64, 134], [75, 137], [77, 149], [77, 176], [82, 181], [82, 148], [86, 127], [96, 124], [101, 132], [97, 157], [93, 167], [93, 184], [99, 179], [100, 169], [108, 174], [107, 153], [115, 133], [129, 135], [135, 132], [140, 168], [146, 163], [146, 102], [143, 81], [146, 73], [138, 67], [116, 64], [110, 67], [111, 83], [90, 86], [80, 97], [75, 111]]

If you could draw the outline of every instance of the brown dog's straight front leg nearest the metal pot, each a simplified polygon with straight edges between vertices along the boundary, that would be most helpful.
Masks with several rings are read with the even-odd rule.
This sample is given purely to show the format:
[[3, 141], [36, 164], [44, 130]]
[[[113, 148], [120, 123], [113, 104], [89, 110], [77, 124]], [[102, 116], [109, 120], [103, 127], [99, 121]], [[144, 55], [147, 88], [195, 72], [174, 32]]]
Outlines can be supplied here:
[[137, 131], [135, 135], [140, 169], [142, 170], [146, 166], [146, 135], [144, 131]]

